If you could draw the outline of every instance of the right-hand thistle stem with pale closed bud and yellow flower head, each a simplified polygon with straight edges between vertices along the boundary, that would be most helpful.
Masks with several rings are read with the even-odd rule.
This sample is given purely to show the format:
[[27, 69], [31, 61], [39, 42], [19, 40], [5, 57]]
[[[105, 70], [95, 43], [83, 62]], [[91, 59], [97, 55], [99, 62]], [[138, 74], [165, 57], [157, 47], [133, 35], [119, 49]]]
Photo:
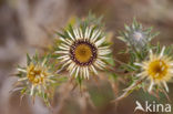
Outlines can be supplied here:
[[125, 25], [125, 31], [120, 34], [118, 39], [128, 45], [124, 53], [130, 53], [130, 61], [123, 64], [122, 69], [131, 74], [132, 83], [116, 100], [122, 100], [141, 87], [144, 90], [147, 87], [147, 92], [153, 95], [156, 95], [156, 92], [169, 92], [166, 82], [171, 82], [173, 76], [173, 48], [163, 46], [161, 50], [160, 43], [152, 45], [152, 39], [159, 33], [152, 33], [151, 28], [143, 30], [142, 24], [135, 19], [132, 27]]

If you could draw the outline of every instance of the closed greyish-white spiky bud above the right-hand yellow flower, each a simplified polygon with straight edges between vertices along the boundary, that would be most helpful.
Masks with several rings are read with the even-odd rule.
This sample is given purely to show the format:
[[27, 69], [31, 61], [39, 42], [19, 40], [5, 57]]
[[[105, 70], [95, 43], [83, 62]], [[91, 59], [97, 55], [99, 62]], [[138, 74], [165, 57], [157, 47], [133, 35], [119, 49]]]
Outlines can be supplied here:
[[144, 30], [142, 24], [138, 23], [134, 19], [131, 27], [125, 25], [125, 31], [121, 32], [119, 39], [124, 41], [129, 46], [135, 46], [140, 50], [157, 34], [152, 34], [151, 30], [151, 28]]

